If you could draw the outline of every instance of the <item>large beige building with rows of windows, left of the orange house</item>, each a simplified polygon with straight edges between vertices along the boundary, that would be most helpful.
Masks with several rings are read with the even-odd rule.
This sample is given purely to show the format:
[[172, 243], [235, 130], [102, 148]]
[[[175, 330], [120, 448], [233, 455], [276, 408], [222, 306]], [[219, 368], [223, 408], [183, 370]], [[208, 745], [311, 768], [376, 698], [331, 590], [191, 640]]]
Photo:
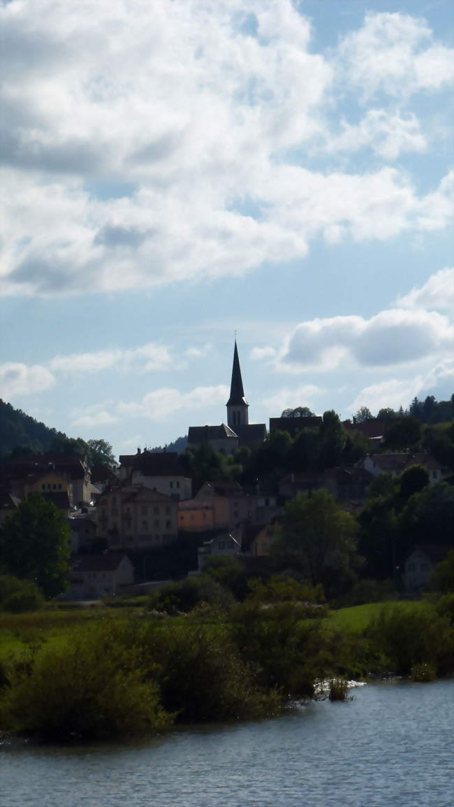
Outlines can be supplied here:
[[98, 537], [110, 549], [153, 549], [176, 540], [178, 502], [140, 485], [114, 485], [104, 491], [96, 508]]

